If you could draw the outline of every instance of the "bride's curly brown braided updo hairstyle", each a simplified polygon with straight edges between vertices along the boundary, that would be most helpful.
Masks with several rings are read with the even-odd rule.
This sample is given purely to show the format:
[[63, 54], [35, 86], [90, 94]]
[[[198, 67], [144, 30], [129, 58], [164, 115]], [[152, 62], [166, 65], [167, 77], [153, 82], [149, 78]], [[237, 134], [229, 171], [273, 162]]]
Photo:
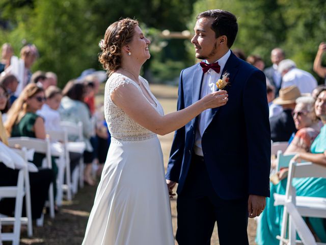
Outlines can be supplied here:
[[98, 60], [109, 76], [120, 68], [122, 47], [131, 41], [134, 28], [138, 24], [137, 20], [125, 18], [106, 29], [104, 39], [99, 42], [102, 53]]

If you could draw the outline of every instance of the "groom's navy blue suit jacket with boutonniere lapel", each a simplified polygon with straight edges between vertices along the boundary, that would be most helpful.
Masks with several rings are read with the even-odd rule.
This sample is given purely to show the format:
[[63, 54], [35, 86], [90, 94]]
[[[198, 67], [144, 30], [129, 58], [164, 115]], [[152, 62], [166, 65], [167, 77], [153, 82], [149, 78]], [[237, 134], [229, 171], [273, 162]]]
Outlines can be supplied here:
[[[269, 197], [270, 127], [266, 79], [262, 71], [231, 53], [224, 70], [230, 76], [229, 101], [211, 109], [203, 133], [202, 149], [212, 186], [223, 199], [248, 194]], [[199, 100], [203, 71], [199, 64], [181, 71], [178, 110]], [[178, 182], [187, 177], [195, 143], [198, 117], [175, 132], [166, 178]]]

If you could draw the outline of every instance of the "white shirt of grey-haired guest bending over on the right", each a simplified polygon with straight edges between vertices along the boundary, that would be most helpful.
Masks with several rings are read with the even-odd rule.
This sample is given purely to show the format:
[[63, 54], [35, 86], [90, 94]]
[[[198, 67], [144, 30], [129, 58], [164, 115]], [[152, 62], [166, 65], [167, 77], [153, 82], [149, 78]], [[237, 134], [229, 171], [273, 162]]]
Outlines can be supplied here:
[[301, 93], [311, 93], [317, 87], [317, 81], [309, 72], [292, 68], [283, 76], [282, 88], [291, 85], [297, 86]]

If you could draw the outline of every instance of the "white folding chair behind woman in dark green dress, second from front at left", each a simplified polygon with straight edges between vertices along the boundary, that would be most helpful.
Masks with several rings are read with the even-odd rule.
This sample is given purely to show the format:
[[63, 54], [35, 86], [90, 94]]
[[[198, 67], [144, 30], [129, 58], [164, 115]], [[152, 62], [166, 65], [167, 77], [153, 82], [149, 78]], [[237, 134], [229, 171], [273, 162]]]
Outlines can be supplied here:
[[[26, 149], [34, 149], [36, 153], [45, 154], [45, 160], [47, 167], [52, 169], [51, 162], [51, 150], [50, 150], [50, 141], [46, 139], [37, 139], [30, 137], [11, 137], [8, 139], [8, 144], [11, 147], [19, 145], [21, 148], [25, 147]], [[53, 195], [53, 183], [49, 187], [49, 209], [50, 217], [55, 217], [55, 200]], [[38, 226], [43, 226], [44, 215], [42, 214], [41, 218], [37, 220]]]

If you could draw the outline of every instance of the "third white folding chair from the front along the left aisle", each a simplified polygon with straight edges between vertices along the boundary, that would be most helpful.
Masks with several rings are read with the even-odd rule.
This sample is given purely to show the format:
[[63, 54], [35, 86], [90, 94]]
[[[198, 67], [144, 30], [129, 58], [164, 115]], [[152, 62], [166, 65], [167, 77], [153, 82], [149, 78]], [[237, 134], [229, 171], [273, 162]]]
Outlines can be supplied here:
[[[59, 157], [58, 163], [63, 161], [64, 164], [58, 165], [58, 178], [57, 178], [57, 205], [62, 205], [64, 191], [67, 193], [67, 200], [71, 201], [71, 180], [70, 180], [70, 158], [68, 152], [68, 134], [66, 130], [53, 131], [48, 130], [46, 134], [50, 137], [51, 142], [57, 141], [51, 144], [51, 154], [52, 156]], [[53, 146], [53, 147], [52, 147]], [[60, 146], [62, 149], [57, 149], [55, 146]], [[66, 184], [64, 183], [64, 178], [66, 176]]]

